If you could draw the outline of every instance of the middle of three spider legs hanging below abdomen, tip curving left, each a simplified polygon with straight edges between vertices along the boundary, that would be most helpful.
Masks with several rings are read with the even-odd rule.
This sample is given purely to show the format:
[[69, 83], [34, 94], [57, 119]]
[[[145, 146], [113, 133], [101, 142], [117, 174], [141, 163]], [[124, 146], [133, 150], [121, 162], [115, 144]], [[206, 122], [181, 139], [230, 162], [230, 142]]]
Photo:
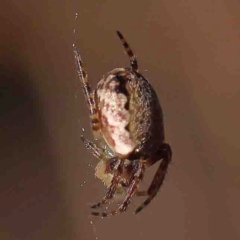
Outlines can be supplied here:
[[103, 212], [103, 213], [92, 212], [92, 214], [94, 216], [110, 217], [110, 216], [114, 216], [116, 214], [119, 214], [121, 212], [125, 212], [127, 210], [128, 206], [129, 206], [129, 204], [131, 202], [132, 197], [137, 192], [138, 185], [139, 185], [139, 183], [141, 182], [141, 180], [143, 178], [143, 173], [144, 173], [144, 170], [145, 170], [144, 164], [143, 164], [143, 162], [141, 160], [137, 161], [136, 164], [137, 164], [136, 171], [135, 171], [135, 173], [133, 175], [132, 181], [131, 181], [131, 183], [129, 185], [129, 188], [127, 190], [125, 199], [124, 199], [123, 203], [119, 206], [119, 208], [117, 210], [109, 212], [109, 213], [106, 213], [106, 212]]

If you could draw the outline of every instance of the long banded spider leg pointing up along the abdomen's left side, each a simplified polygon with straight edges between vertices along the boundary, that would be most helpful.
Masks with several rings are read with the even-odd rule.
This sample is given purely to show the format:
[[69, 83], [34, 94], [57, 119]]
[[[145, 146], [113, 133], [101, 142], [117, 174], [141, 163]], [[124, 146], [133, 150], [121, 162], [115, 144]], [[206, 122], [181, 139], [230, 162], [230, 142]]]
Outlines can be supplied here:
[[88, 82], [87, 72], [85, 71], [85, 69], [83, 67], [83, 62], [82, 62], [81, 56], [80, 56], [78, 48], [75, 44], [73, 45], [73, 52], [74, 52], [74, 57], [76, 60], [78, 78], [82, 83], [83, 92], [84, 92], [84, 95], [85, 95], [85, 98], [87, 100], [88, 107], [90, 110], [90, 119], [91, 119], [92, 130], [99, 131], [100, 123], [99, 123], [96, 103], [95, 103], [95, 99], [94, 99], [94, 91], [91, 90], [90, 84]]

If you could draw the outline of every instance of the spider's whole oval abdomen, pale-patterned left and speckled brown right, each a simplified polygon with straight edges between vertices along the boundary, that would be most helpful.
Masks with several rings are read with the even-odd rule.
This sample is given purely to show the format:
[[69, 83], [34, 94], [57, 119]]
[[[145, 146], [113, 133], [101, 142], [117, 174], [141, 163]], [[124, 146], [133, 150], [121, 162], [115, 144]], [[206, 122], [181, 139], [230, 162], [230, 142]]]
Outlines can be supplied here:
[[[117, 68], [96, 91], [102, 136], [118, 155], [147, 156], [164, 140], [162, 110], [155, 91], [139, 73]], [[149, 152], [149, 154], [148, 154]]]

